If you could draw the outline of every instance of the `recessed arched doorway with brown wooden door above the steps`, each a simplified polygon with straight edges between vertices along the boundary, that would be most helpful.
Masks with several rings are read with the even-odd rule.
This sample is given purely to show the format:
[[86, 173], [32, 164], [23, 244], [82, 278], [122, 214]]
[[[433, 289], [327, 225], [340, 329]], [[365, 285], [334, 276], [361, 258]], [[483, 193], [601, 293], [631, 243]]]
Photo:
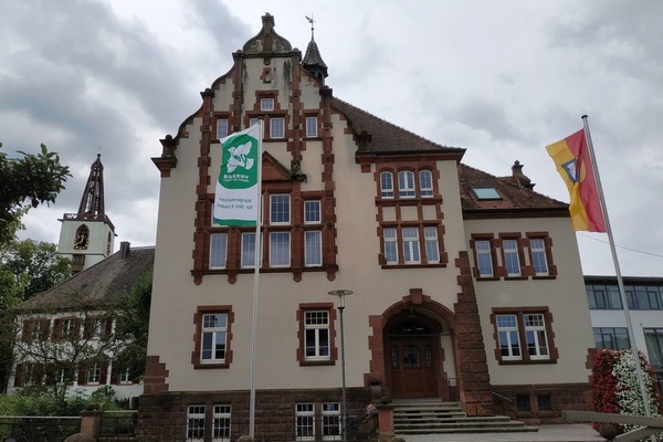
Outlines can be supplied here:
[[421, 307], [406, 308], [385, 325], [385, 372], [393, 399], [450, 400], [443, 327], [427, 313]]

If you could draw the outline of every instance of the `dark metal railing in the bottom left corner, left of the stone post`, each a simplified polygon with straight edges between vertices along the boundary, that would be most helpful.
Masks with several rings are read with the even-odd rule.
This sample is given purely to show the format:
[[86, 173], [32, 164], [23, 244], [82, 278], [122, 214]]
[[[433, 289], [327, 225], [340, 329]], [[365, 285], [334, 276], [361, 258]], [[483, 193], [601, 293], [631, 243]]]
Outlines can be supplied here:
[[0, 441], [62, 442], [80, 429], [78, 417], [0, 415]]

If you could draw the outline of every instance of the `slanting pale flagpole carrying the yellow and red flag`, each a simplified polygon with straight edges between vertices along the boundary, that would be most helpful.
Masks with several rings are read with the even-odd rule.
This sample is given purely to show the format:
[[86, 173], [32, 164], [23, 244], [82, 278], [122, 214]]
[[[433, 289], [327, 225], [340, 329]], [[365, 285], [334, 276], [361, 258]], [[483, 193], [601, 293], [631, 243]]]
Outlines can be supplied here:
[[[640, 385], [640, 392], [642, 394], [642, 401], [644, 402], [644, 414], [652, 415], [650, 407], [650, 397], [644, 385], [644, 378], [642, 375], [642, 367], [640, 367], [640, 357], [638, 355], [638, 346], [635, 345], [635, 335], [633, 333], [633, 324], [631, 323], [631, 315], [629, 314], [629, 303], [627, 299], [627, 293], [624, 290], [624, 282], [621, 276], [619, 267], [619, 260], [617, 257], [617, 248], [614, 246], [614, 239], [612, 236], [612, 229], [610, 227], [610, 219], [608, 218], [608, 208], [606, 206], [606, 198], [603, 197], [603, 187], [601, 186], [601, 178], [599, 176], [599, 167], [593, 151], [593, 145], [591, 143], [591, 135], [589, 133], [589, 124], [587, 123], [587, 115], [582, 115], [582, 126], [585, 127], [585, 138], [587, 140], [587, 147], [589, 152], [590, 164], [593, 170], [593, 175], [597, 181], [597, 190], [599, 192], [599, 199], [601, 201], [601, 211], [603, 212], [603, 220], [606, 220], [606, 232], [608, 233], [608, 242], [610, 243], [610, 252], [612, 253], [612, 262], [614, 263], [614, 272], [617, 275], [617, 284], [619, 286], [619, 294], [624, 308], [624, 316], [627, 318], [627, 330], [629, 334], [629, 340], [631, 341], [631, 350], [633, 351], [633, 359], [635, 361], [635, 373], [638, 375], [638, 383]], [[578, 173], [580, 171], [578, 170]], [[652, 436], [653, 438], [653, 436]], [[655, 441], [655, 439], [652, 439]]]

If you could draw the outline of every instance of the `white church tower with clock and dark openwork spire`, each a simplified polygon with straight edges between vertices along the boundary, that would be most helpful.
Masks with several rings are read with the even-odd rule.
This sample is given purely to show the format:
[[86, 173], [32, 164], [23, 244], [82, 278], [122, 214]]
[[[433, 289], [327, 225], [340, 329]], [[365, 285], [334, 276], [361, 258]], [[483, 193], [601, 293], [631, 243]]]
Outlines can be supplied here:
[[104, 165], [101, 155], [90, 168], [77, 213], [65, 213], [57, 252], [72, 259], [72, 272], [85, 270], [113, 253], [115, 227], [104, 209]]

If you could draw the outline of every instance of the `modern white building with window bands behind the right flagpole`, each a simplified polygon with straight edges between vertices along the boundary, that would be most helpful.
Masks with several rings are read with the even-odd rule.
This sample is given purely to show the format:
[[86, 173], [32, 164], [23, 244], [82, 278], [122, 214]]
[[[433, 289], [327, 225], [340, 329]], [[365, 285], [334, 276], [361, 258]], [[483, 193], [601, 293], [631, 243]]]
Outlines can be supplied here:
[[[617, 276], [585, 276], [591, 326], [598, 349], [642, 350], [663, 391], [663, 277], [622, 277], [624, 309]], [[629, 339], [629, 315], [634, 343]]]

